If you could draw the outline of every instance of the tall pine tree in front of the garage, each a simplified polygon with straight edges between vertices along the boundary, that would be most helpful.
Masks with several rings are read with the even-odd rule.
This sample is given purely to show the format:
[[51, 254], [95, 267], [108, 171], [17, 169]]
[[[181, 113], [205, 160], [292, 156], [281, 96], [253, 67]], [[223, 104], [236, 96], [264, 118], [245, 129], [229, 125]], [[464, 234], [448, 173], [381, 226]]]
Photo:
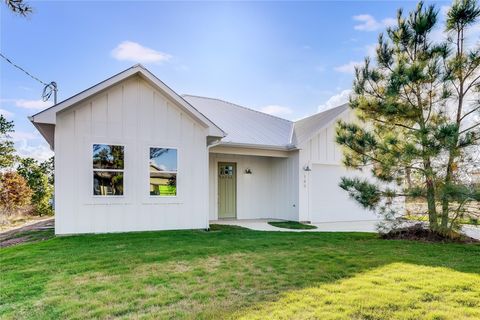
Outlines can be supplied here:
[[356, 68], [350, 106], [359, 122], [339, 122], [336, 140], [344, 164], [371, 168], [377, 181], [342, 178], [350, 196], [385, 216], [396, 197], [423, 198], [430, 229], [448, 235], [462, 206], [479, 196], [462, 172], [479, 154], [472, 117], [480, 110], [480, 48], [466, 49], [465, 31], [480, 10], [474, 0], [455, 1], [447, 43], [432, 39], [437, 15], [423, 2], [407, 17], [399, 10], [397, 25], [379, 37], [375, 63]]

